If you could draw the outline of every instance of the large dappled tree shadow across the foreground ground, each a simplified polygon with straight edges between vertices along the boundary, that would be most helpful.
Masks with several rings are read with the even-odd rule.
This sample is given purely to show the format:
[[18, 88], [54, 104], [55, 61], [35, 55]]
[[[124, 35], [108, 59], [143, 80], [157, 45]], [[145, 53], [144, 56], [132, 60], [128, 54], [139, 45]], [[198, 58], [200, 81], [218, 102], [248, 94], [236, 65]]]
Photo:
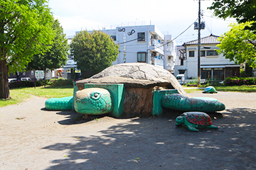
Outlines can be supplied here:
[[176, 127], [173, 115], [134, 118], [100, 135], [73, 136], [75, 144], [43, 149], [68, 149], [48, 169], [256, 169], [256, 110], [233, 108], [223, 115], [213, 117], [218, 130], [190, 132]]

